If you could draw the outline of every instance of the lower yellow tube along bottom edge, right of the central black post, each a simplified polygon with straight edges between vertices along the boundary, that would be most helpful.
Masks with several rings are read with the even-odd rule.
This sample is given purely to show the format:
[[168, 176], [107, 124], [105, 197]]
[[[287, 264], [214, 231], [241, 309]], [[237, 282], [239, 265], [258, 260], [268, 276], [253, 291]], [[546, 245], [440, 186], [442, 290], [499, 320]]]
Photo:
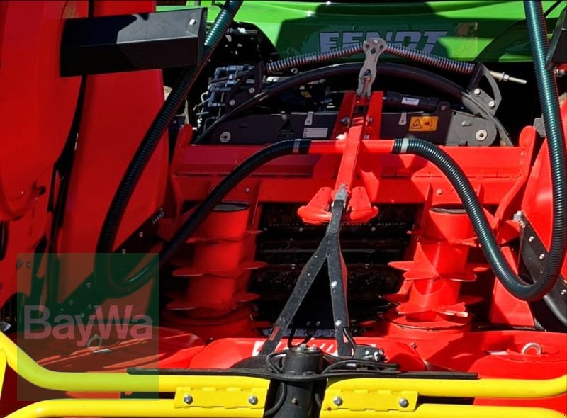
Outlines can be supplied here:
[[[227, 417], [230, 415], [227, 414]], [[413, 412], [404, 411], [349, 411], [335, 409], [321, 411], [320, 418], [564, 418], [565, 415], [544, 408], [493, 407], [484, 405], [423, 404]]]

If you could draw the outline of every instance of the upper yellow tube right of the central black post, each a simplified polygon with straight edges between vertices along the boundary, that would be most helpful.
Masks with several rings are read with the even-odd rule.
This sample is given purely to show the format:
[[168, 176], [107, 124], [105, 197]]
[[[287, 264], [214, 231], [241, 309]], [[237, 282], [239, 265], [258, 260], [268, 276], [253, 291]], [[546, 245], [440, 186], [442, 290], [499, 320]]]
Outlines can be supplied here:
[[327, 385], [327, 390], [352, 392], [364, 388], [376, 390], [415, 391], [422, 396], [449, 397], [498, 397], [533, 399], [554, 397], [567, 392], [567, 375], [549, 380], [522, 379], [404, 379], [404, 378], [355, 378], [335, 380]]

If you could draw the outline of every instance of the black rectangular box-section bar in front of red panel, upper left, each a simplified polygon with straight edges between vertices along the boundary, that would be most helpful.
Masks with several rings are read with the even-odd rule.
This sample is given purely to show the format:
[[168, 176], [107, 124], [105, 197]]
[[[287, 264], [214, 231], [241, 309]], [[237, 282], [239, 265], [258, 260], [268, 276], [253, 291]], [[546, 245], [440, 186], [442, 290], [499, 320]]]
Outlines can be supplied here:
[[206, 9], [69, 19], [62, 77], [191, 67], [201, 62]]

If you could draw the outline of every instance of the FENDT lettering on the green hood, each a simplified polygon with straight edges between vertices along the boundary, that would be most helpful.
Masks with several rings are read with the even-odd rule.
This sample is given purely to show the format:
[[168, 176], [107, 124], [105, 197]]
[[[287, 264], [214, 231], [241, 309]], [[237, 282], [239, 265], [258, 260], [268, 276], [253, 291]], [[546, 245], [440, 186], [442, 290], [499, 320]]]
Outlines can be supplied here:
[[447, 30], [398, 30], [384, 33], [382, 37], [379, 32], [322, 32], [319, 33], [319, 48], [321, 52], [327, 52], [339, 47], [356, 45], [369, 38], [383, 38], [388, 43], [398, 46], [406, 46], [411, 50], [422, 50], [428, 54], [437, 45], [439, 38], [447, 35]]

